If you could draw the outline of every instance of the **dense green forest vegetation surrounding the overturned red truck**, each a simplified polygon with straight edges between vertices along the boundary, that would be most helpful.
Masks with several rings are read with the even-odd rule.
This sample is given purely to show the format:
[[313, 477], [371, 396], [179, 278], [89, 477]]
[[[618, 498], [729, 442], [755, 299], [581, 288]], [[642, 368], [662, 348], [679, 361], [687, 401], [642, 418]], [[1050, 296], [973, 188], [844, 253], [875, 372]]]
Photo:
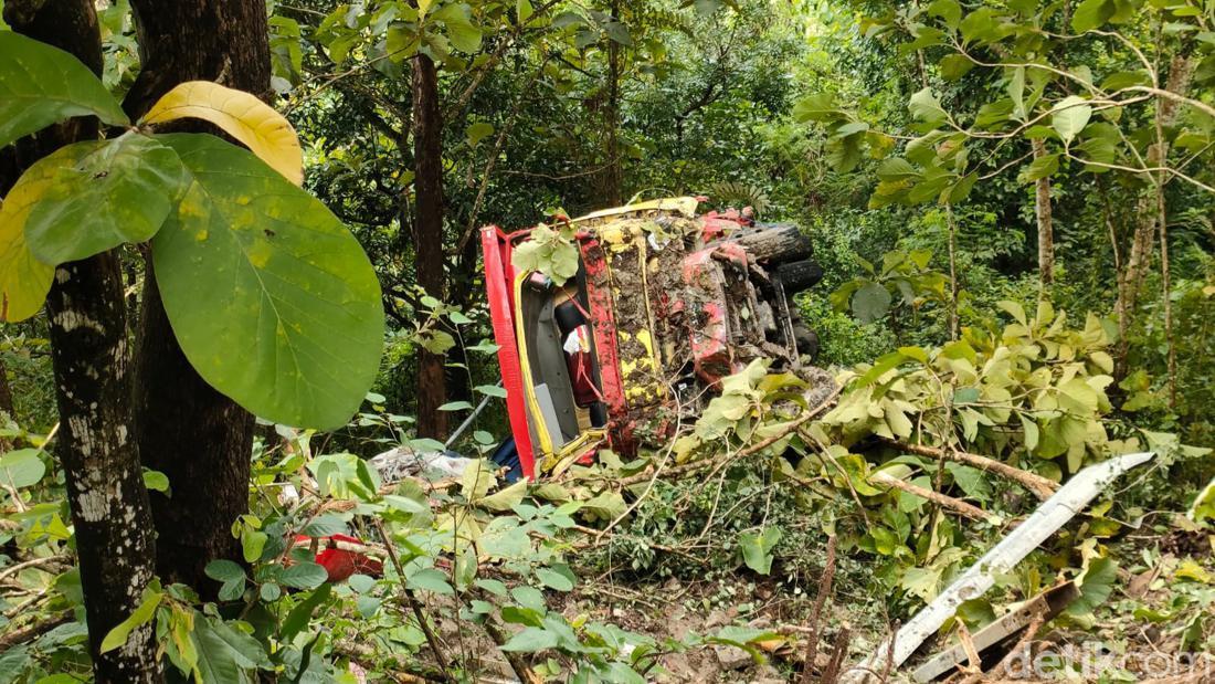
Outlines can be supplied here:
[[[0, 682], [831, 680], [1140, 451], [940, 643], [1075, 581], [1036, 677], [1208, 680], [1209, 2], [0, 7]], [[685, 194], [810, 237], [830, 403], [382, 482], [509, 430], [477, 228]]]

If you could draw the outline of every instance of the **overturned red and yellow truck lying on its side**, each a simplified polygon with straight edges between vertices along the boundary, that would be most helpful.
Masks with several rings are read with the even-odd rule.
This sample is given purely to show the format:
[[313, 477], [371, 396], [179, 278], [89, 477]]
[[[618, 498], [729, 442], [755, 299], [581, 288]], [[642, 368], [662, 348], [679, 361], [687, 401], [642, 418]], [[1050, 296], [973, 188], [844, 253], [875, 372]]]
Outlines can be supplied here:
[[807, 237], [696, 208], [673, 198], [561, 220], [578, 261], [564, 283], [515, 266], [535, 228], [482, 230], [513, 433], [496, 460], [535, 479], [605, 446], [632, 453], [694, 422], [706, 390], [747, 362], [813, 361], [818, 339], [792, 300], [823, 275]]

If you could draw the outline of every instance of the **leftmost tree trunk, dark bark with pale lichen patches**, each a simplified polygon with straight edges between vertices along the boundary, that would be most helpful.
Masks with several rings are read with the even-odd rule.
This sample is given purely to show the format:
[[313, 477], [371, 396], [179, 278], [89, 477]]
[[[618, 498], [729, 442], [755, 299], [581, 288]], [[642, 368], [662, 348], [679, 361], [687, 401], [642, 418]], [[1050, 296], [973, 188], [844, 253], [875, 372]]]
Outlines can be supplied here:
[[[94, 73], [102, 69], [101, 35], [90, 0], [5, 5], [9, 24], [72, 52]], [[69, 121], [24, 141], [29, 159], [85, 139], [96, 119]], [[4, 179], [9, 186], [16, 179]], [[5, 190], [6, 190], [5, 187]], [[152, 513], [130, 429], [130, 350], [117, 251], [60, 266], [46, 299], [51, 366], [63, 429], [56, 453], [63, 464], [75, 528], [80, 584], [94, 675], [100, 684], [163, 680], [151, 624], [126, 644], [101, 652], [101, 641], [140, 605], [154, 575]]]

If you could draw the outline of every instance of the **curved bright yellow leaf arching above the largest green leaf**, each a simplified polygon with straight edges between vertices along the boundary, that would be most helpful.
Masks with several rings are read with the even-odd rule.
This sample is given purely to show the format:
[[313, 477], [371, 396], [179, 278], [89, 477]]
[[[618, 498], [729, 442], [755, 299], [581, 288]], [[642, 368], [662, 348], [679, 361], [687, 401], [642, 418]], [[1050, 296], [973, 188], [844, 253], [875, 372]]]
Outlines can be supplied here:
[[304, 151], [295, 129], [253, 95], [216, 83], [186, 81], [164, 94], [141, 123], [163, 124], [185, 118], [215, 124], [293, 183], [304, 182]]

